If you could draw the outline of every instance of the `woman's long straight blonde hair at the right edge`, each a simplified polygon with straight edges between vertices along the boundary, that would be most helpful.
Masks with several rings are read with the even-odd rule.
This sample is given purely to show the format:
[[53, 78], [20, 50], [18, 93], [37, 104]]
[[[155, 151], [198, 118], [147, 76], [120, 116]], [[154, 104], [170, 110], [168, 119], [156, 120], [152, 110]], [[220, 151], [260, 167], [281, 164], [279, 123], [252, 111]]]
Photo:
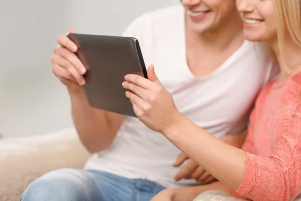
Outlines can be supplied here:
[[[301, 0], [273, 0], [274, 16], [280, 57], [283, 58], [283, 44], [287, 34], [301, 47]], [[291, 70], [284, 65], [291, 74]]]

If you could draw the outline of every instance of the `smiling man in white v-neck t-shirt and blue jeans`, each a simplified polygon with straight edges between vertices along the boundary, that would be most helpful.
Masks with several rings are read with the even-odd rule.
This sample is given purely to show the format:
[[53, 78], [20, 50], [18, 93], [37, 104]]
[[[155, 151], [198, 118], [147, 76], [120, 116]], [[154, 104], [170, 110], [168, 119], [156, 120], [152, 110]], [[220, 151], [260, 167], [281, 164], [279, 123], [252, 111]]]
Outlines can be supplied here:
[[[272, 63], [244, 41], [235, 0], [181, 3], [139, 17], [123, 36], [139, 40], [145, 64], [156, 66], [181, 113], [241, 146], [244, 135], [231, 134], [244, 131], [257, 93], [273, 77]], [[77, 47], [66, 36], [58, 43], [53, 72], [67, 86], [79, 137], [94, 155], [84, 170], [56, 170], [37, 179], [22, 201], [144, 201], [164, 188], [212, 180], [193, 161], [183, 165], [183, 154], [173, 166], [181, 152], [138, 119], [91, 108], [81, 89], [86, 69], [74, 54]]]

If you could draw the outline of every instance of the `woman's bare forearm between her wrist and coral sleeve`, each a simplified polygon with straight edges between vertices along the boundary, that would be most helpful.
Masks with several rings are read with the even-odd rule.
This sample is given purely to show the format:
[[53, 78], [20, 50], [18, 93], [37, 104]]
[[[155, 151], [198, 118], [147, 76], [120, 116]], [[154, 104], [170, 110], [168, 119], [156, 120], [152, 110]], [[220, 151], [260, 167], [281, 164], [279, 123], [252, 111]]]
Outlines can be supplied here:
[[215, 178], [237, 189], [245, 172], [246, 153], [219, 140], [184, 116], [162, 134]]

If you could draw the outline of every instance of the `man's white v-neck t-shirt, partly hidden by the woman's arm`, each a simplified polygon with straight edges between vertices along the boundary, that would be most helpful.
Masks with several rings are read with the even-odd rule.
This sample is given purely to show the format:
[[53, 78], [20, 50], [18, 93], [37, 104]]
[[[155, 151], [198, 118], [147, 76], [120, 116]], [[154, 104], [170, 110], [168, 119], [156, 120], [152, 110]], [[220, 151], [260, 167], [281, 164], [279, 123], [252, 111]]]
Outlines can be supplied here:
[[[216, 137], [246, 128], [256, 95], [274, 77], [271, 60], [248, 41], [210, 75], [194, 76], [187, 65], [182, 6], [147, 13], [123, 35], [138, 39], [145, 65], [154, 64], [178, 110]], [[94, 154], [85, 168], [148, 179], [169, 188], [196, 184], [193, 179], [174, 180], [181, 167], [172, 164], [180, 153], [163, 135], [127, 117], [110, 148]]]

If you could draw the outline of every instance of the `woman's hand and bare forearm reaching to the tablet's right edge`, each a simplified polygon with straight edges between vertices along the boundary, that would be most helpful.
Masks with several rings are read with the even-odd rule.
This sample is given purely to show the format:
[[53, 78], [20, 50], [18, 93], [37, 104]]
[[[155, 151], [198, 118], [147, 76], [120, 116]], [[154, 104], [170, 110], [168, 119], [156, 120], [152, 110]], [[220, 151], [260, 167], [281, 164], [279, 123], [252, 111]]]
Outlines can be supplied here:
[[148, 67], [147, 75], [149, 79], [128, 74], [122, 83], [129, 90], [126, 96], [139, 120], [165, 135], [215, 178], [237, 189], [245, 172], [246, 153], [215, 138], [181, 115], [153, 65]]

